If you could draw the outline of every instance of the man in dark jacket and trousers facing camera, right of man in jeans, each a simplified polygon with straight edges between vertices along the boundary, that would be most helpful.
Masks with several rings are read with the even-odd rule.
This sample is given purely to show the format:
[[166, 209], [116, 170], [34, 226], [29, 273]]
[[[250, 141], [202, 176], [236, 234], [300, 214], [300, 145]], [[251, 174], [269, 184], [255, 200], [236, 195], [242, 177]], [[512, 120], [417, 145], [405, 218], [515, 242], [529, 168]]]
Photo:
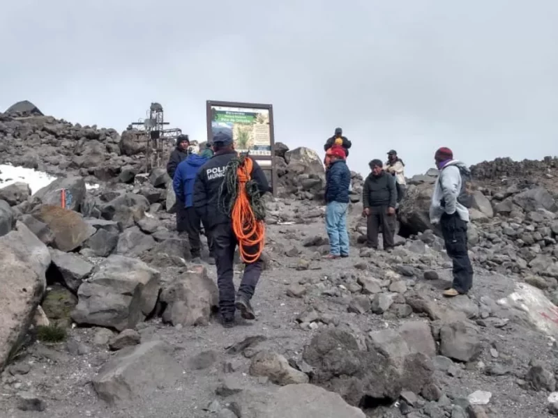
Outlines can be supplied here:
[[384, 171], [382, 160], [372, 160], [369, 165], [371, 172], [364, 180], [362, 191], [363, 217], [367, 218], [367, 245], [378, 248], [379, 227], [382, 226], [384, 250], [391, 251], [395, 246], [395, 178]]

